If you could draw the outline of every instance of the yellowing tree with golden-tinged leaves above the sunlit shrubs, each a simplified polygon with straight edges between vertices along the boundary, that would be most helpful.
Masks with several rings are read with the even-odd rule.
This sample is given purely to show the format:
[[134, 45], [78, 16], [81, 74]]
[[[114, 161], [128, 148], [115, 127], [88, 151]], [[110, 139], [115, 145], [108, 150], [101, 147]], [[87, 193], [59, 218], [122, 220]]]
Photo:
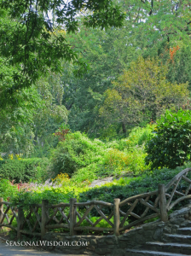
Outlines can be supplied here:
[[167, 68], [159, 60], [140, 57], [131, 62], [130, 68], [113, 82], [113, 89], [106, 90], [101, 116], [108, 125], [120, 123], [125, 133], [126, 125], [154, 121], [165, 108], [180, 108], [188, 97], [188, 84], [171, 84], [166, 74]]

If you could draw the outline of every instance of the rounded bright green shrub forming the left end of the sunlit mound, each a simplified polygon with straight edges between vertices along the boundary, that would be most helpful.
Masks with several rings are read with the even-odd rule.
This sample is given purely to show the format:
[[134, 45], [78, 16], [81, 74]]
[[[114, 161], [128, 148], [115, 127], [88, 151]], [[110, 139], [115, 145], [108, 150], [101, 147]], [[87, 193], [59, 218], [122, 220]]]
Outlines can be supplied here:
[[62, 172], [71, 177], [79, 168], [96, 163], [104, 154], [103, 148], [106, 148], [104, 143], [96, 139], [91, 141], [79, 131], [67, 134], [66, 140], [59, 143], [51, 154], [54, 176]]

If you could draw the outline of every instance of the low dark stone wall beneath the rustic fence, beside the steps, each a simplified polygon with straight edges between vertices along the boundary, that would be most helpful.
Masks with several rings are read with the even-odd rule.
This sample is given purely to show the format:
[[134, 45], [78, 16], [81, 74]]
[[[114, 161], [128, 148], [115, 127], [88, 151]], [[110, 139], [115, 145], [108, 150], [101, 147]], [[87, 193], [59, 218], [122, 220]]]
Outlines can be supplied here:
[[[167, 222], [160, 220], [142, 224], [123, 236], [68, 236], [63, 233], [47, 233], [43, 241], [53, 245], [45, 246], [57, 253], [124, 256], [127, 248], [142, 247], [147, 241], [161, 241], [165, 233], [174, 234], [179, 227], [186, 226], [191, 219], [191, 207], [173, 212]], [[54, 245], [55, 242], [55, 245]]]

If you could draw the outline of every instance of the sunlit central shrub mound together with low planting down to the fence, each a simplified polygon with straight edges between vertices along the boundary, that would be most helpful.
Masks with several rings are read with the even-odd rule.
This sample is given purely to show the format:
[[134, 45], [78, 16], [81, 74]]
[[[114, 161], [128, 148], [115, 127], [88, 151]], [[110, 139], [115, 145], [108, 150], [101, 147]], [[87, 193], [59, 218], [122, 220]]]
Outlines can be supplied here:
[[[147, 156], [145, 143], [153, 139], [154, 128], [155, 125], [151, 124], [145, 128], [137, 127], [130, 131], [129, 137], [105, 143], [90, 139], [80, 132], [68, 133], [51, 152], [51, 178], [46, 183], [31, 183], [20, 187], [17, 184], [17, 191], [11, 193], [9, 200], [14, 207], [21, 206], [28, 212], [30, 204], [41, 203], [43, 199], [49, 200], [50, 204], [69, 202], [70, 198], [77, 198], [81, 202], [98, 200], [113, 203], [114, 198], [123, 201], [130, 196], [158, 189], [159, 183], [168, 183], [191, 164], [177, 169], [150, 171], [144, 162]], [[93, 180], [108, 176], [113, 177], [112, 182], [90, 188]], [[9, 187], [13, 185], [9, 183]], [[185, 190], [184, 185], [180, 189]], [[154, 196], [150, 200], [153, 201]], [[142, 209], [142, 205], [138, 204], [136, 214], [140, 214]], [[68, 214], [68, 211], [66, 209], [65, 213]], [[84, 211], [84, 207], [79, 208], [80, 213]], [[102, 211], [106, 215], [111, 213], [107, 208]], [[89, 215], [90, 220], [95, 222], [98, 217], [93, 209]], [[127, 224], [133, 220], [132, 217], [128, 218]], [[84, 220], [82, 225], [89, 224]], [[107, 225], [105, 221], [100, 224], [106, 228]]]

